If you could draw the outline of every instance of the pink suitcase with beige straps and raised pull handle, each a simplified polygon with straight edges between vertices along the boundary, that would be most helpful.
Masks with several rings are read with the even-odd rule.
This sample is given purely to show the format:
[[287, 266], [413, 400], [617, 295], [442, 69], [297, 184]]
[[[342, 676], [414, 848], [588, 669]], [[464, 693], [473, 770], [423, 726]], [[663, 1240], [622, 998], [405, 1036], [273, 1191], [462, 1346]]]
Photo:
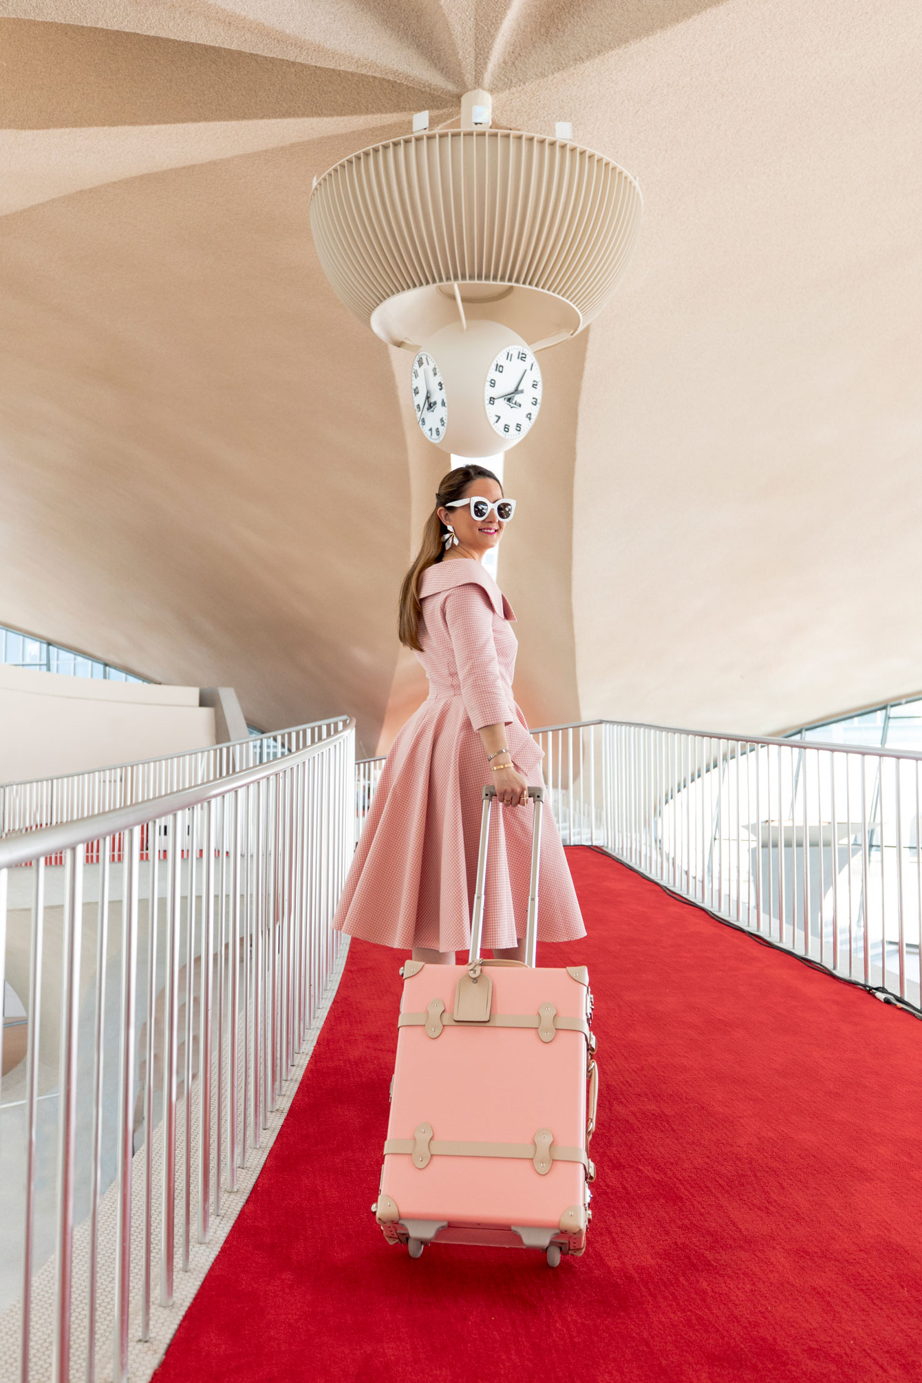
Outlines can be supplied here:
[[[375, 1217], [388, 1243], [579, 1254], [592, 1218], [599, 1075], [583, 965], [536, 969], [545, 790], [535, 798], [528, 963], [481, 960], [492, 787], [484, 788], [467, 965], [406, 961]], [[511, 808], [509, 809], [511, 810]], [[589, 1115], [586, 1083], [589, 1082]]]

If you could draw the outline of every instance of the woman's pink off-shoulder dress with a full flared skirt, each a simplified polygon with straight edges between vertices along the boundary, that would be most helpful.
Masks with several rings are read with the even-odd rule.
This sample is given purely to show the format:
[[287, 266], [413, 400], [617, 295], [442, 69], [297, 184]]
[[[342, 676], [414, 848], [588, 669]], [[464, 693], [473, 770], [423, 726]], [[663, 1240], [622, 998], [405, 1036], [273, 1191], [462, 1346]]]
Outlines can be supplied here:
[[[440, 561], [423, 573], [420, 597], [429, 697], [387, 755], [333, 925], [382, 946], [466, 950], [492, 777], [477, 730], [505, 722], [513, 762], [534, 787], [543, 754], [513, 700], [516, 617], [492, 577], [473, 559]], [[525, 935], [532, 812], [532, 802], [493, 806], [487, 949]], [[571, 940], [586, 932], [547, 802], [543, 812], [538, 935]]]

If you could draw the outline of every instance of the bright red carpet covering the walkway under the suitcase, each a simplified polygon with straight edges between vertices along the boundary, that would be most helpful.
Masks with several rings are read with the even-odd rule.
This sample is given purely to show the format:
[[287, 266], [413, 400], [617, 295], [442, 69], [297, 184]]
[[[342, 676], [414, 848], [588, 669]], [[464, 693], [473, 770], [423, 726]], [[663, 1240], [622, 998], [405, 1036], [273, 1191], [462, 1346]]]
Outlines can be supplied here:
[[582, 1259], [386, 1246], [394, 953], [352, 943], [173, 1380], [919, 1379], [922, 1025], [570, 852], [603, 1076]]

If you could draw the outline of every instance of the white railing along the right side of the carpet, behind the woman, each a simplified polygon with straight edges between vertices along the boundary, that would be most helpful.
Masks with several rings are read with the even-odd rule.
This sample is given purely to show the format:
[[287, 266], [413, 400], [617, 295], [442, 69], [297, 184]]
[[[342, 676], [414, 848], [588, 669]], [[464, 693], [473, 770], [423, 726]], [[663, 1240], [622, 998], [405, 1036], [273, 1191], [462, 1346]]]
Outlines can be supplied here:
[[[565, 845], [919, 1007], [922, 754], [592, 721], [534, 732]], [[357, 822], [383, 761], [365, 761]]]

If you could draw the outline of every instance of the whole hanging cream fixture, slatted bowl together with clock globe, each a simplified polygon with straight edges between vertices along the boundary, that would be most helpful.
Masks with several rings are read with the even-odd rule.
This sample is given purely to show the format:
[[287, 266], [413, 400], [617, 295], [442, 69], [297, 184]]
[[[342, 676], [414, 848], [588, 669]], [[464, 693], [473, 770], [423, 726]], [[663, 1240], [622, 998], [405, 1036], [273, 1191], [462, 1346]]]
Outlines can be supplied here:
[[[505, 451], [531, 429], [534, 353], [601, 311], [643, 209], [636, 178], [611, 159], [570, 138], [495, 130], [491, 111], [488, 93], [469, 91], [460, 129], [429, 130], [423, 112], [413, 134], [351, 154], [311, 194], [333, 289], [382, 340], [413, 353], [420, 427], [467, 456]], [[520, 369], [499, 389], [507, 350]], [[523, 408], [525, 397], [538, 401]]]

